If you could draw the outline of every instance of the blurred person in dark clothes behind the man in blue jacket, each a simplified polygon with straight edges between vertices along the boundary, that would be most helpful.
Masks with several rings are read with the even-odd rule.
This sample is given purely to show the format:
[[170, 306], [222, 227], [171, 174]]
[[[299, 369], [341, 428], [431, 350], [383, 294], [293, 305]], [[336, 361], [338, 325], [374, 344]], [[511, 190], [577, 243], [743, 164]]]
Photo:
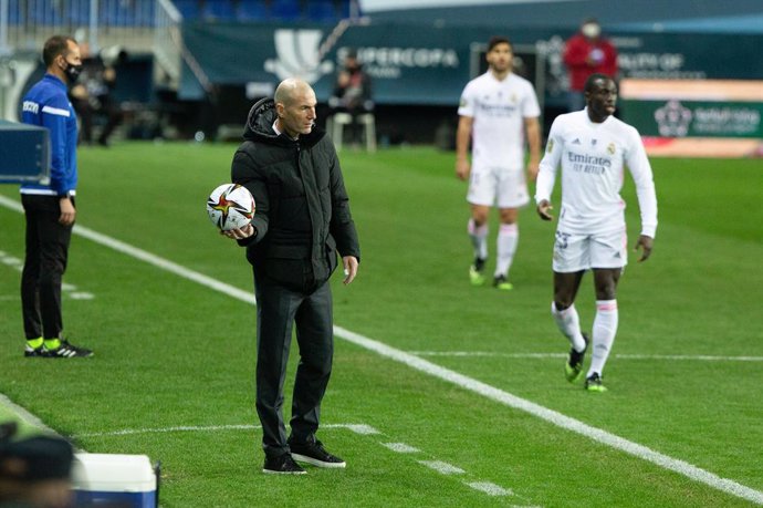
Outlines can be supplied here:
[[93, 122], [96, 116], [104, 116], [106, 124], [98, 135], [97, 143], [108, 146], [108, 138], [123, 117], [119, 104], [112, 96], [116, 86], [116, 71], [112, 66], [113, 62], [106, 63], [101, 54], [91, 54], [90, 44], [86, 42], [80, 45], [80, 53], [82, 74], [70, 92], [72, 105], [82, 121], [80, 142], [87, 145], [93, 143]]

